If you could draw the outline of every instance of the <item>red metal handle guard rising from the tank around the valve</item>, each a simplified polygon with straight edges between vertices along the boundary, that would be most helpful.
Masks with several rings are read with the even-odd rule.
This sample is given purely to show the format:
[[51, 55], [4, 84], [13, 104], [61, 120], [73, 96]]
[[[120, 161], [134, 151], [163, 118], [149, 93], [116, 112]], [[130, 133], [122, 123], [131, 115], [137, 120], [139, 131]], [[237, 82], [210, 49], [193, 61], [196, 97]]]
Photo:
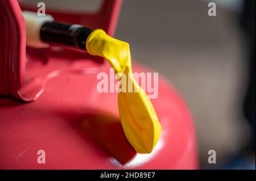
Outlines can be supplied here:
[[[101, 28], [113, 36], [121, 2], [104, 0], [101, 9], [94, 14], [47, 9], [46, 13], [57, 21], [82, 24], [93, 29]], [[22, 10], [36, 11], [31, 7], [19, 6], [16, 0], [0, 1], [0, 95], [11, 95], [20, 100], [24, 99], [17, 92], [25, 84], [26, 72], [26, 26]]]

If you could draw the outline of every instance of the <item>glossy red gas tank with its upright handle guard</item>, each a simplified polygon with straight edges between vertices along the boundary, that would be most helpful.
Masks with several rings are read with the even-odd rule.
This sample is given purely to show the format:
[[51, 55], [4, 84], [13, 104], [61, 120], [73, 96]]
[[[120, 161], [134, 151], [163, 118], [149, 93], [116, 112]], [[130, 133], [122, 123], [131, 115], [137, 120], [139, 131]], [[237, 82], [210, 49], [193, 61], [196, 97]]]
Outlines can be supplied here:
[[[48, 10], [57, 21], [101, 28], [113, 36], [121, 1], [96, 14]], [[151, 154], [138, 154], [119, 122], [117, 93], [98, 93], [101, 57], [65, 48], [26, 48], [14, 0], [0, 1], [0, 169], [197, 169], [195, 128], [181, 96], [159, 77], [151, 99], [162, 133]], [[134, 62], [134, 61], [133, 61]], [[136, 63], [134, 72], [153, 72]], [[40, 150], [46, 163], [38, 163]]]

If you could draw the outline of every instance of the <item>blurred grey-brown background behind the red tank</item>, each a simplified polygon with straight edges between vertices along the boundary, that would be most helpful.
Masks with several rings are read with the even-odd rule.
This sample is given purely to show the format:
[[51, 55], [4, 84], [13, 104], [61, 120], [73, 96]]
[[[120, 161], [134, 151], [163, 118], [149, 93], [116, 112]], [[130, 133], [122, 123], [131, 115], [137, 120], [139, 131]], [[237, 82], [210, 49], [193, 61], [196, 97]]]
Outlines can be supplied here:
[[[95, 11], [101, 1], [76, 0], [72, 7], [68, 0], [40, 2], [46, 8]], [[216, 3], [217, 16], [208, 16], [209, 2]], [[242, 0], [125, 0], [119, 16], [115, 37], [130, 44], [134, 61], [166, 77], [191, 109], [201, 169], [255, 169], [255, 140], [250, 145], [255, 110], [250, 118], [254, 128], [243, 113], [250, 59], [254, 98], [249, 99], [255, 109], [255, 32], [248, 36], [246, 27], [251, 26], [242, 19], [243, 7]], [[215, 165], [208, 163], [212, 149]]]

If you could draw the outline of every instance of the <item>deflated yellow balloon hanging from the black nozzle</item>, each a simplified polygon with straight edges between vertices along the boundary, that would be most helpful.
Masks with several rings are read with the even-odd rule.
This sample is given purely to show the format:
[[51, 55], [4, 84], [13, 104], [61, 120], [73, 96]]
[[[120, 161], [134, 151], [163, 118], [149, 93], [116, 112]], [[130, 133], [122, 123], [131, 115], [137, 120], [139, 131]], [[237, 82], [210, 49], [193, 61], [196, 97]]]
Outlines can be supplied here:
[[118, 93], [122, 128], [127, 140], [138, 153], [151, 153], [162, 128], [150, 99], [133, 77], [129, 44], [98, 29], [90, 33], [86, 49], [92, 55], [106, 58], [115, 73], [123, 73], [126, 75], [126, 82], [131, 81], [133, 92], [127, 90]]

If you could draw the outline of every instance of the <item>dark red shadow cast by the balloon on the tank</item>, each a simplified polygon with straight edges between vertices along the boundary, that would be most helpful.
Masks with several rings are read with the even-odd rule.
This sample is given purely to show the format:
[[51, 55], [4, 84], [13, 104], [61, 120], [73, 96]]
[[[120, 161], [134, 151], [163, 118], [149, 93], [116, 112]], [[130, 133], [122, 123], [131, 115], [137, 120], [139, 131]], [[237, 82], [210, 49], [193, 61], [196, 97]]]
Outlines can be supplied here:
[[88, 113], [76, 122], [76, 128], [82, 137], [89, 137], [121, 164], [129, 162], [136, 154], [123, 133], [121, 123], [110, 115]]

